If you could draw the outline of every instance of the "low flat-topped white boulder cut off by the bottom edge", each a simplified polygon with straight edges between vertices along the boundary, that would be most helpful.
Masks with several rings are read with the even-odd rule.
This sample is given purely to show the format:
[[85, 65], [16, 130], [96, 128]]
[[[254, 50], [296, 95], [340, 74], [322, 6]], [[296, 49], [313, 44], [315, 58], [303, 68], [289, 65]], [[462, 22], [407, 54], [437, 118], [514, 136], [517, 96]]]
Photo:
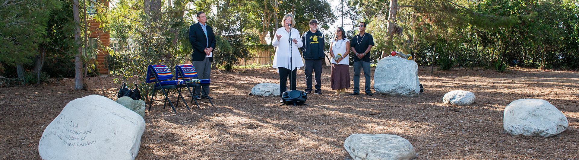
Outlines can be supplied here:
[[352, 134], [344, 141], [344, 147], [354, 160], [417, 157], [410, 141], [392, 134]]

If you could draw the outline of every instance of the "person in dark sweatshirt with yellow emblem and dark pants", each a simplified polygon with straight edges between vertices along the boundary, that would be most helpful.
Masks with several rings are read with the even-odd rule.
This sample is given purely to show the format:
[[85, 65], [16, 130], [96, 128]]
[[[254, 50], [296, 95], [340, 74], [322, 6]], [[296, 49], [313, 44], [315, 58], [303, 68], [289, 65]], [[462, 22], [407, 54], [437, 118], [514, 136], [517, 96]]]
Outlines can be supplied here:
[[310, 30], [302, 34], [302, 54], [306, 60], [306, 90], [312, 93], [312, 71], [316, 74], [316, 94], [322, 94], [321, 74], [324, 60], [324, 34], [318, 31], [318, 21], [310, 20]]

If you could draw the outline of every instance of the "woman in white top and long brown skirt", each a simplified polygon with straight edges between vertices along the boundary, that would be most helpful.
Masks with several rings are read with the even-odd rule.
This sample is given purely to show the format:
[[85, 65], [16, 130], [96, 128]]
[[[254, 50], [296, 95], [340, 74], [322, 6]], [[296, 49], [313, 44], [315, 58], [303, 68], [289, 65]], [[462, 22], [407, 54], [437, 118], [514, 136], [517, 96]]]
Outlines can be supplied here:
[[344, 36], [344, 28], [336, 28], [336, 38], [329, 44], [329, 54], [332, 56], [332, 80], [330, 85], [336, 90], [335, 94], [346, 94], [346, 88], [350, 87], [350, 40]]

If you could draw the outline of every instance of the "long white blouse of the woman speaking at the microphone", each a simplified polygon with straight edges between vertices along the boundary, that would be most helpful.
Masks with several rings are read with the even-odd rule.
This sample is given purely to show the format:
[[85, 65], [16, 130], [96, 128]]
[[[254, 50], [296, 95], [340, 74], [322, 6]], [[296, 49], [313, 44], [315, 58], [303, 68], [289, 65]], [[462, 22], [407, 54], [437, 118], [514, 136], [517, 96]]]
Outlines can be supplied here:
[[290, 39], [290, 33], [288, 33], [284, 27], [277, 28], [276, 34], [281, 34], [280, 41], [277, 41], [277, 37], [273, 37], [272, 45], [277, 47], [276, 54], [273, 56], [273, 68], [283, 67], [288, 68], [291, 70], [295, 70], [296, 68], [299, 70], [300, 67], [303, 67], [302, 56], [299, 54], [298, 48], [303, 46], [302, 41], [299, 38], [299, 32], [295, 28], [291, 28], [291, 38], [295, 38], [298, 40], [298, 43], [292, 43], [291, 48], [291, 57], [292, 57], [292, 64], [290, 68], [290, 43], [288, 43], [288, 39]]

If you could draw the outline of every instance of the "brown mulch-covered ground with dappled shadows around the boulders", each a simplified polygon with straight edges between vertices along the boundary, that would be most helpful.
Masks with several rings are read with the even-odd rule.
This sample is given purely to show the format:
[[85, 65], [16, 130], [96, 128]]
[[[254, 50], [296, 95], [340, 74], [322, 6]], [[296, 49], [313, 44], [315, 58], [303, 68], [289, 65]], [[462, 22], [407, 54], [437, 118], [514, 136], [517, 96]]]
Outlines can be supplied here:
[[[350, 75], [353, 71], [350, 67]], [[372, 70], [373, 75], [373, 70]], [[577, 77], [573, 71], [515, 68], [505, 73], [419, 68], [425, 92], [419, 97], [376, 94], [337, 96], [329, 88], [329, 67], [322, 75], [322, 95], [310, 106], [279, 106], [278, 97], [248, 96], [252, 86], [277, 83], [273, 68], [212, 72], [211, 94], [200, 109], [182, 104], [177, 113], [153, 104], [138, 159], [344, 159], [350, 134], [396, 134], [411, 141], [420, 159], [555, 159], [579, 155]], [[363, 81], [363, 76], [362, 81]], [[0, 91], [0, 159], [38, 159], [44, 127], [68, 101], [89, 94], [116, 99], [111, 77], [89, 80], [89, 91], [73, 91], [65, 79], [48, 86]], [[298, 71], [298, 89], [305, 89]], [[98, 86], [98, 88], [97, 88]], [[362, 83], [362, 88], [363, 88]], [[446, 106], [452, 90], [477, 96], [471, 106]], [[351, 92], [351, 88], [347, 90]], [[24, 97], [24, 98], [21, 98]], [[173, 96], [174, 97], [174, 96]], [[569, 119], [569, 128], [554, 137], [510, 136], [503, 130], [503, 110], [516, 99], [545, 99]]]

